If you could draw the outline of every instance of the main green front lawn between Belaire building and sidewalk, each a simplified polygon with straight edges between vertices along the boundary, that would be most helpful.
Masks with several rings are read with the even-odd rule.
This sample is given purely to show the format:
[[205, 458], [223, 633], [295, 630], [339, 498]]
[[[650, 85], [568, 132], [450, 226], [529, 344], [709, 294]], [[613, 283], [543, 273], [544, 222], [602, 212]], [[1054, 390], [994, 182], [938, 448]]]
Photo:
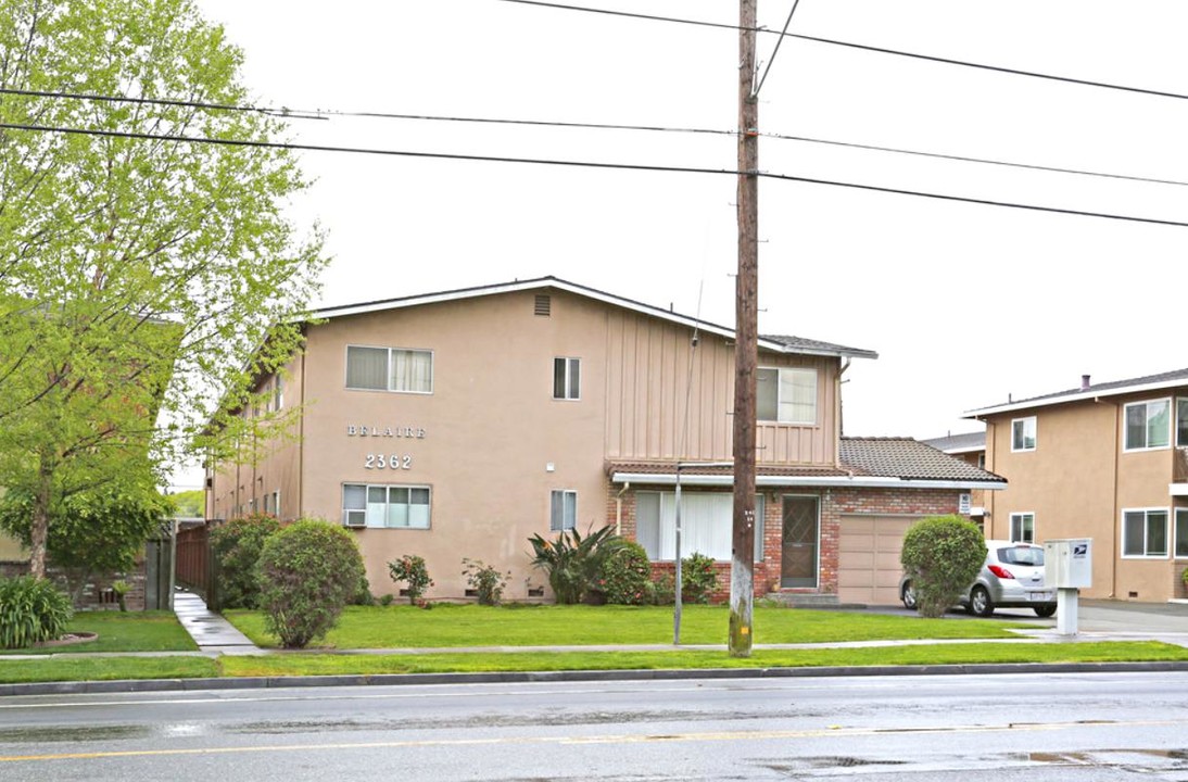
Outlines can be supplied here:
[[[276, 647], [255, 611], [228, 611], [227, 618], [259, 647]], [[726, 606], [685, 606], [681, 642], [726, 643]], [[857, 611], [797, 611], [757, 606], [756, 643], [824, 643], [914, 638], [1015, 638], [1009, 628], [1029, 626], [988, 619], [922, 619]], [[448, 647], [533, 647], [670, 644], [670, 606], [507, 606], [440, 604], [352, 606], [322, 643], [331, 649]]]

